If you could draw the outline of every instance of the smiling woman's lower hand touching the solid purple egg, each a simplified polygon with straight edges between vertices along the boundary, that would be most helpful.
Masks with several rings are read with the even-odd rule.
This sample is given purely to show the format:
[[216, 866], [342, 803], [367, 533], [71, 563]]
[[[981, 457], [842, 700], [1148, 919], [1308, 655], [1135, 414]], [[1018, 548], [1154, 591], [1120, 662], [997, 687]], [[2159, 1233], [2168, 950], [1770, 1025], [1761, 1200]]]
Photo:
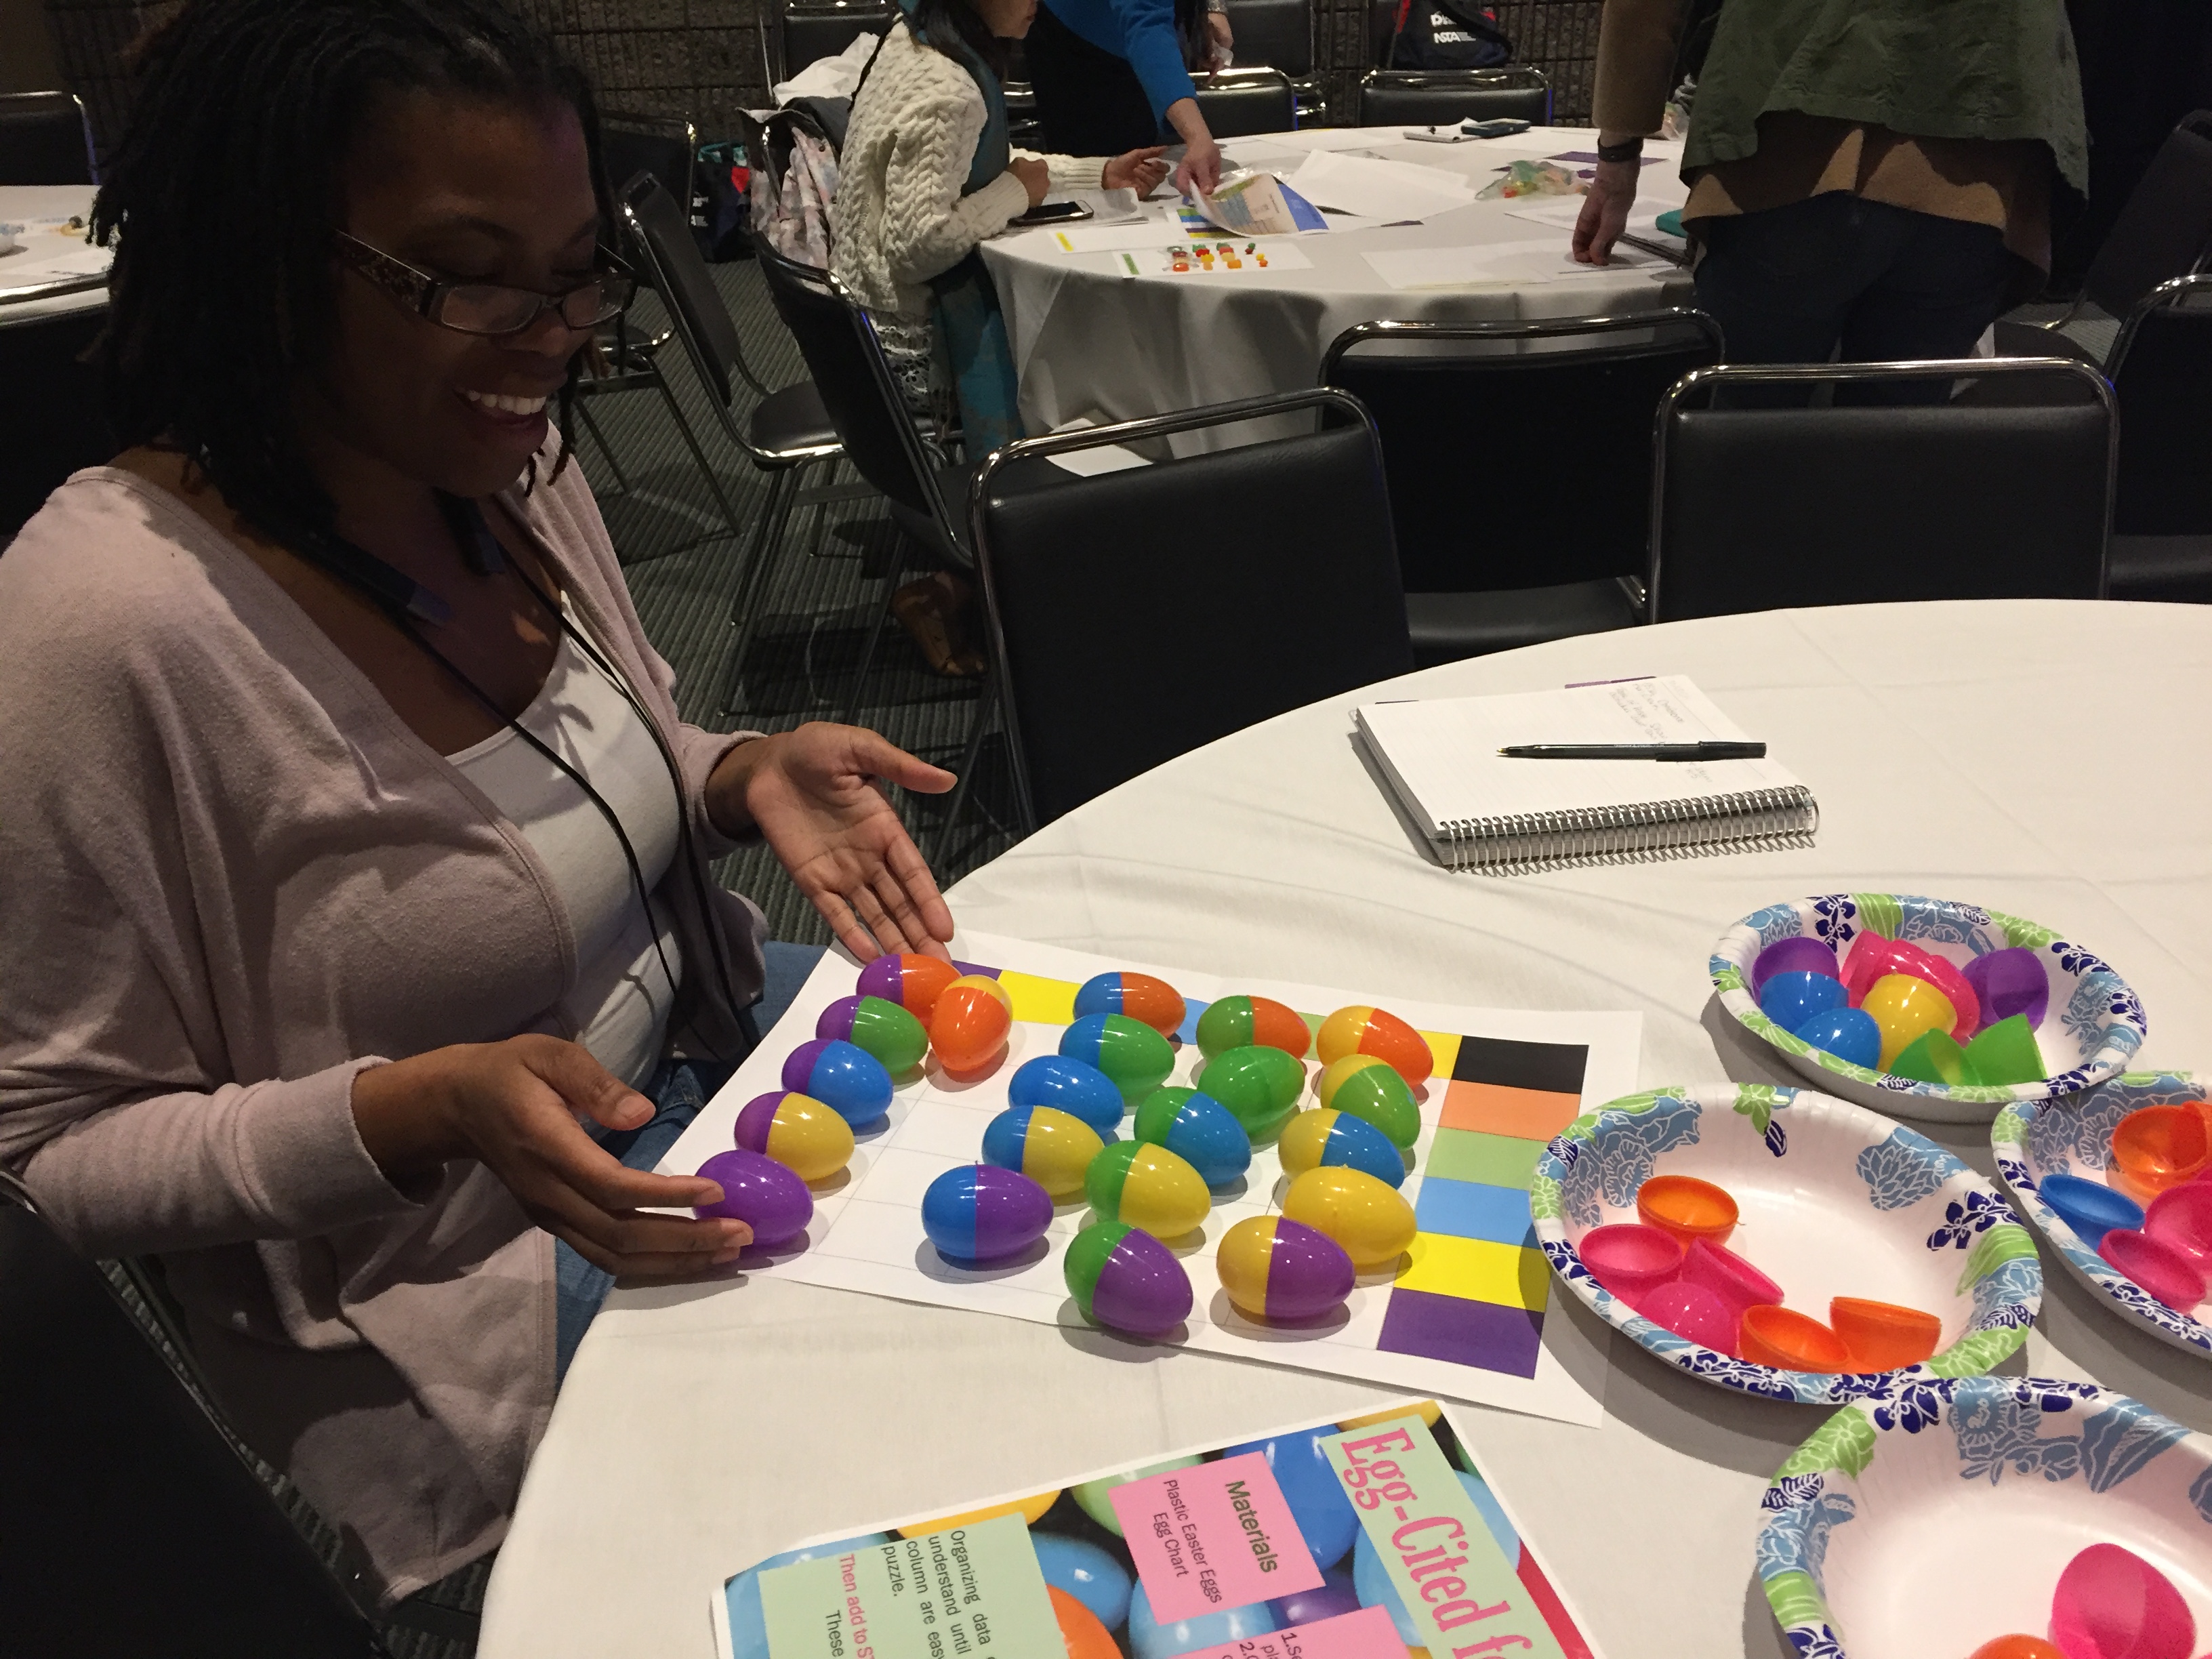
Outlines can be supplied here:
[[577, 1044], [540, 1035], [431, 1048], [354, 1077], [361, 1144], [398, 1188], [431, 1183], [447, 1161], [473, 1157], [584, 1261], [639, 1279], [697, 1274], [752, 1243], [743, 1221], [639, 1214], [714, 1203], [721, 1188], [628, 1170], [577, 1117], [639, 1128], [653, 1102]]

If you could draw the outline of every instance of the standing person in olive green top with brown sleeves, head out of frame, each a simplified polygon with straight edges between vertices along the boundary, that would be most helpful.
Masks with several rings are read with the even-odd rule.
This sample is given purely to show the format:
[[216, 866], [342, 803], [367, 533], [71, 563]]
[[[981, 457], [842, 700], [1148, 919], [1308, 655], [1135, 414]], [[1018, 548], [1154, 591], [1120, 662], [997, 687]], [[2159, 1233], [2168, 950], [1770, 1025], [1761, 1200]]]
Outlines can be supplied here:
[[[1681, 13], [1606, 0], [1575, 259], [1628, 221]], [[2062, 0], [1725, 0], [1681, 159], [1697, 303], [1732, 363], [1969, 356], [2051, 268], [2051, 179], [2086, 190], [2086, 144]]]

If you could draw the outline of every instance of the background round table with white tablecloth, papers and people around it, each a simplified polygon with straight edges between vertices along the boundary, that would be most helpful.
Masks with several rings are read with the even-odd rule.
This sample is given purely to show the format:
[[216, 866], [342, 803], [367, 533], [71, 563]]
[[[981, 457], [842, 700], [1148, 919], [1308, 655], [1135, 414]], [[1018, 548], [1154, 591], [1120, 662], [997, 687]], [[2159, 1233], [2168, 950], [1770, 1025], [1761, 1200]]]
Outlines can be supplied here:
[[[1595, 144], [1597, 133], [1588, 128], [1418, 144], [1405, 139], [1405, 128], [1387, 126], [1274, 133], [1230, 139], [1223, 150], [1234, 166], [1279, 175], [1296, 170], [1307, 150], [1336, 150], [1442, 168], [1482, 186], [1517, 157], [1590, 153]], [[1652, 161], [1644, 168], [1639, 210], [1679, 208], [1688, 195], [1677, 177], [1681, 146], [1652, 142], [1646, 155]], [[1422, 223], [1301, 234], [1287, 241], [1310, 265], [1281, 270], [1177, 276], [1152, 270], [1155, 261], [1137, 250], [1130, 263], [1139, 274], [1133, 276], [1119, 252], [1068, 252], [1053, 230], [998, 237], [982, 246], [982, 257], [1006, 312], [1022, 420], [1031, 431], [1048, 431], [1077, 418], [1133, 420], [1301, 392], [1318, 380], [1323, 352], [1338, 334], [1376, 319], [1593, 316], [1690, 303], [1690, 274], [1674, 265], [1579, 268], [1548, 281], [1482, 276], [1480, 250], [1555, 243], [1564, 254], [1568, 226], [1517, 217], [1546, 206], [1562, 212], [1562, 204], [1573, 199], [1473, 201]], [[1447, 285], [1391, 288], [1367, 261], [1367, 254], [1405, 250], [1436, 252], [1440, 268], [1427, 276]], [[1467, 250], [1464, 265], [1449, 257], [1458, 250]]]

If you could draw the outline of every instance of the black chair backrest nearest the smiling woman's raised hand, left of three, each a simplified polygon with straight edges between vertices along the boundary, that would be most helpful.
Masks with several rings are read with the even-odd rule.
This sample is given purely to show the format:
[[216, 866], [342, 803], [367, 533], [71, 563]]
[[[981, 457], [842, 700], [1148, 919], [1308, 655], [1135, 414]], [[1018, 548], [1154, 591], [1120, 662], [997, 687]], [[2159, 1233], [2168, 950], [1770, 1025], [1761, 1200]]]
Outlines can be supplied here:
[[[1044, 460], [1310, 409], [1334, 425], [1093, 478]], [[1383, 456], [1343, 392], [1026, 438], [982, 465], [969, 524], [1037, 823], [1413, 661]]]

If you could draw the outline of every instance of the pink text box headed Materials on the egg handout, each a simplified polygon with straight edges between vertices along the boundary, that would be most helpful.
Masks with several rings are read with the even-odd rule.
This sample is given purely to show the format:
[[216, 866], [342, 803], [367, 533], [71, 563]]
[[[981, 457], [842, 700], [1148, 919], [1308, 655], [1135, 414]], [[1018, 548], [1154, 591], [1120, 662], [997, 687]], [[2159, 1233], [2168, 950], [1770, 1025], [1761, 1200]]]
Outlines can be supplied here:
[[1321, 1586], [1314, 1553], [1256, 1451], [1130, 1480], [1108, 1495], [1159, 1624]]

